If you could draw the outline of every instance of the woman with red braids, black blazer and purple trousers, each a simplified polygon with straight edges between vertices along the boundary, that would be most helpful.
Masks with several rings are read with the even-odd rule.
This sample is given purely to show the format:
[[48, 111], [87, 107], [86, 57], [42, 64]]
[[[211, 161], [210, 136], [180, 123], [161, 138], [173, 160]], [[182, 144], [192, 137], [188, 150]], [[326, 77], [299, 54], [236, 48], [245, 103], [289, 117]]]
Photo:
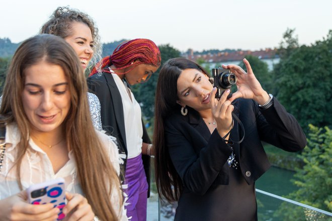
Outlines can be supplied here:
[[101, 61], [102, 73], [94, 68], [88, 79], [91, 92], [101, 103], [103, 128], [113, 131], [121, 145], [120, 155], [125, 156], [125, 207], [131, 221], [146, 220], [152, 144], [141, 108], [128, 85], [146, 82], [160, 66], [160, 60], [160, 51], [151, 40], [126, 41]]

